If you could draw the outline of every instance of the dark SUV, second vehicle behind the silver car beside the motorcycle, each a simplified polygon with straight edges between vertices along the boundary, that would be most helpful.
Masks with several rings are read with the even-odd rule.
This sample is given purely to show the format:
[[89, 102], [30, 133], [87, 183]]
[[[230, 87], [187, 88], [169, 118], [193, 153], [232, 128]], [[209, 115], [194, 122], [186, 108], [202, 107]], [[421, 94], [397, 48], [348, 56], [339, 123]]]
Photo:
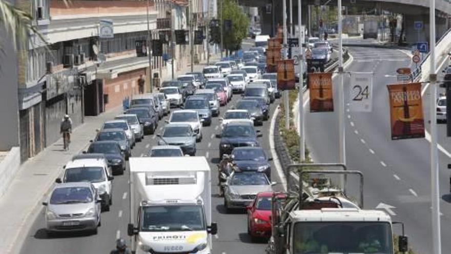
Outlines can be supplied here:
[[255, 130], [251, 123], [230, 123], [224, 126], [219, 142], [219, 158], [224, 154], [230, 154], [235, 147], [241, 146], [259, 146], [257, 137], [261, 136], [259, 130]]

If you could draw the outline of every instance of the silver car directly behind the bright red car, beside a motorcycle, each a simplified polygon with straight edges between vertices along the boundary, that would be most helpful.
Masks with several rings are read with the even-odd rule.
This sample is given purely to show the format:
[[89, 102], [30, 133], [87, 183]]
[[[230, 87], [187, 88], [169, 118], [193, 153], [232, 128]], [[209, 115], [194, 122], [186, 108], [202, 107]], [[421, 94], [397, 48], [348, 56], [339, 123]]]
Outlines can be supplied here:
[[246, 208], [255, 199], [258, 192], [272, 191], [271, 183], [262, 172], [233, 172], [224, 186], [224, 207]]

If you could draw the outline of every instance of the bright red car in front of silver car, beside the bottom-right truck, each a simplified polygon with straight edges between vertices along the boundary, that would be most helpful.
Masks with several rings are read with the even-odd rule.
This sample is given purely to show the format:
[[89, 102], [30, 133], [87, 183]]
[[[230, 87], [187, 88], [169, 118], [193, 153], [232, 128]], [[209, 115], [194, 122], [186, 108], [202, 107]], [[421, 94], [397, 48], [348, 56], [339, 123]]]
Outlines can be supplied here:
[[[257, 193], [248, 208], [248, 235], [252, 241], [271, 237], [271, 199], [272, 191]], [[278, 197], [283, 197], [279, 194]]]

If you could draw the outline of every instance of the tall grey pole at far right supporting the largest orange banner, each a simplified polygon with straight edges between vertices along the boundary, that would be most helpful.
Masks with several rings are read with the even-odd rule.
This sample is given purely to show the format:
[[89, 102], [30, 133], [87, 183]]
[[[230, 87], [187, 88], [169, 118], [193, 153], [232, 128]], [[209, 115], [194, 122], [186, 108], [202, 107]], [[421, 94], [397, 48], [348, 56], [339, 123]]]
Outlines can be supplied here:
[[432, 253], [441, 254], [440, 207], [439, 207], [439, 165], [437, 151], [437, 74], [435, 67], [435, 0], [429, 1], [430, 38], [430, 196], [432, 199]]

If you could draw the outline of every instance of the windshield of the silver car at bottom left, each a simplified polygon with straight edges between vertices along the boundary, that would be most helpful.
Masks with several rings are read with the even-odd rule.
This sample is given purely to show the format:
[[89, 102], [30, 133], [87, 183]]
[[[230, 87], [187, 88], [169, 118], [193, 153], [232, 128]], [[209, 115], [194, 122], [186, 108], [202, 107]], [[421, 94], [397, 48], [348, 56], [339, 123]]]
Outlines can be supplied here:
[[91, 203], [92, 200], [92, 193], [88, 187], [65, 187], [53, 190], [50, 204]]

